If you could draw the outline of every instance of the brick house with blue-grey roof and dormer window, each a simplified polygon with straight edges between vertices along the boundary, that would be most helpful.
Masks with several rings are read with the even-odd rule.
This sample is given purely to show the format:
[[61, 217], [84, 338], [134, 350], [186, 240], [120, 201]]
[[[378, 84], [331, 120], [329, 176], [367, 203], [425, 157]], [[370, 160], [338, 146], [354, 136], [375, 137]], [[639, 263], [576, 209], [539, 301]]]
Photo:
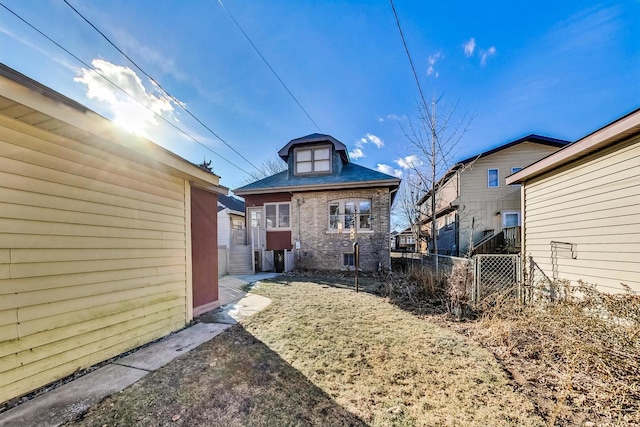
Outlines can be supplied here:
[[400, 180], [351, 163], [346, 146], [329, 135], [293, 139], [278, 154], [286, 171], [234, 190], [245, 199], [249, 243], [262, 260], [257, 268], [353, 268], [352, 224], [360, 268], [387, 268]]

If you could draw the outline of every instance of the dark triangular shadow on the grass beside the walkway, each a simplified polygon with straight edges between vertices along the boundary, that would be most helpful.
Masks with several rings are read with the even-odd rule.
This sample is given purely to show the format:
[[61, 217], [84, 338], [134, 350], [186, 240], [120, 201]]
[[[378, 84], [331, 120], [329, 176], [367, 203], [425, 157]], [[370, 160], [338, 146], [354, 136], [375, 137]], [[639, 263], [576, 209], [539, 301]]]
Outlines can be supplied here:
[[238, 324], [68, 425], [366, 423]]

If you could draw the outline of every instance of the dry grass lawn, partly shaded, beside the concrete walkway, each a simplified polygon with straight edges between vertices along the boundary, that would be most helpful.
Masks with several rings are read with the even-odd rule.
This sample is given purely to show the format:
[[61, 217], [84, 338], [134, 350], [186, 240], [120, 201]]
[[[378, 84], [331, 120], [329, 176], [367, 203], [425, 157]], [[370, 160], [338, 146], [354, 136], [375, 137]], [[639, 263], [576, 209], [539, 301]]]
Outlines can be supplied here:
[[313, 279], [254, 292], [273, 303], [68, 425], [544, 425], [490, 352], [385, 299]]

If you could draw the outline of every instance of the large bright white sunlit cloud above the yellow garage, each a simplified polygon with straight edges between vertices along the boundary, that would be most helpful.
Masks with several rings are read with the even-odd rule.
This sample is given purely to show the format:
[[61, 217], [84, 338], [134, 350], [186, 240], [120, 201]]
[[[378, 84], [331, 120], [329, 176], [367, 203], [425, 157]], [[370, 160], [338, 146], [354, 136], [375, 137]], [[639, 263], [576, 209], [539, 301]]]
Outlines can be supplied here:
[[[74, 81], [87, 85], [87, 98], [109, 105], [115, 123], [131, 132], [145, 135], [149, 126], [158, 125], [155, 114], [168, 114], [174, 118], [174, 108], [170, 98], [155, 85], [152, 85], [152, 91], [147, 92], [142, 80], [132, 69], [103, 59], [94, 59], [91, 64], [97, 72], [82, 68], [80, 75], [75, 77]], [[109, 79], [135, 99], [101, 76]]]

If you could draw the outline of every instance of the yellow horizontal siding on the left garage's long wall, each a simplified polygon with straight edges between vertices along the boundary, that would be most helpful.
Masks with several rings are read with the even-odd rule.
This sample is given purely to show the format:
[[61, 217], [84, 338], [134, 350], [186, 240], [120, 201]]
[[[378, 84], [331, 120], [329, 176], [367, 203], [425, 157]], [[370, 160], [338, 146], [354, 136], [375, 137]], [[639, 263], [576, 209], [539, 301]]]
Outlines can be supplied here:
[[0, 402], [184, 326], [188, 186], [0, 117]]

